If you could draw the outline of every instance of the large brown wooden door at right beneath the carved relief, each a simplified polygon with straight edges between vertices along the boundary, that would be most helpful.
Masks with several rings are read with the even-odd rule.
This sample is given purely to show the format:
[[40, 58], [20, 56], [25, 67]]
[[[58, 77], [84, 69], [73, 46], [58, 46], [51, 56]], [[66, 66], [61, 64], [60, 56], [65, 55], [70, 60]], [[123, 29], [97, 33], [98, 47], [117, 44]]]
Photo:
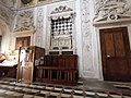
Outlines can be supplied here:
[[131, 81], [127, 27], [100, 29], [100, 48], [104, 79]]

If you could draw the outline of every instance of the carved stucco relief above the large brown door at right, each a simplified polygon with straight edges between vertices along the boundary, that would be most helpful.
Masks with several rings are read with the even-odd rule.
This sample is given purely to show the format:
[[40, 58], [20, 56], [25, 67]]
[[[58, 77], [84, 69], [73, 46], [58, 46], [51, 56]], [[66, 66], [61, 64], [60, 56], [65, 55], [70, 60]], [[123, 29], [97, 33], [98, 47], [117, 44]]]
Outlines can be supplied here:
[[131, 19], [130, 8], [126, 0], [99, 0], [96, 4], [94, 22]]

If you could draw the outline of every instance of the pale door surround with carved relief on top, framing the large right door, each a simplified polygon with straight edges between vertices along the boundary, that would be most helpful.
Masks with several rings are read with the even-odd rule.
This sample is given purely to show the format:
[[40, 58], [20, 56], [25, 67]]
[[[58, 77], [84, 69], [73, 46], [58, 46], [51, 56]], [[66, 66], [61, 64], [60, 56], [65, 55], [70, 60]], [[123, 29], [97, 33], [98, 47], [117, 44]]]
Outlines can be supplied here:
[[96, 35], [96, 60], [98, 61], [99, 79], [103, 79], [99, 29], [127, 26], [131, 45], [131, 7], [129, 3], [130, 0], [95, 0], [94, 2], [93, 26]]

